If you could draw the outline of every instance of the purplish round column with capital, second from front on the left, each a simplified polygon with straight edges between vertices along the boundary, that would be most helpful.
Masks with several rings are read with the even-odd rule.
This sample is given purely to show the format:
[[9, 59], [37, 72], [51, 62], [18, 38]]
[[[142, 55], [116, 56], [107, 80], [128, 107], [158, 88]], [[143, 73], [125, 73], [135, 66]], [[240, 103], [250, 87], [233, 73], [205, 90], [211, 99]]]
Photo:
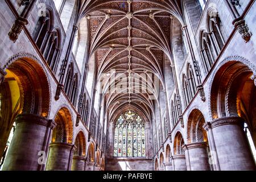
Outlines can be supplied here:
[[47, 171], [69, 171], [75, 146], [69, 143], [55, 142], [49, 145]]

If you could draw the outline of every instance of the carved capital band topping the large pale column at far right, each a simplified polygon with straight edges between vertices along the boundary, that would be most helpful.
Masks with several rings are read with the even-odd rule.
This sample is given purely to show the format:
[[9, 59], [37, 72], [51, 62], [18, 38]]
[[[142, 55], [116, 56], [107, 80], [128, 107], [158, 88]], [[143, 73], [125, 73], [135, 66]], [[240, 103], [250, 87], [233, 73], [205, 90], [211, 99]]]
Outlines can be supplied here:
[[224, 117], [218, 118], [211, 122], [212, 128], [223, 125], [241, 125], [244, 123], [243, 118], [240, 117]]

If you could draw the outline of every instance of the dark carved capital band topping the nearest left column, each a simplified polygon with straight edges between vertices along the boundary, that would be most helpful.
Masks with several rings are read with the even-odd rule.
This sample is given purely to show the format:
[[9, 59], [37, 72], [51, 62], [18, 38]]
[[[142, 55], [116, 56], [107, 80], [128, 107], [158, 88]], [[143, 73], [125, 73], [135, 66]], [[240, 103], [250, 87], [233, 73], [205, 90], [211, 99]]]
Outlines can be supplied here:
[[16, 123], [35, 123], [37, 125], [42, 125], [51, 128], [52, 130], [56, 127], [56, 123], [52, 119], [47, 119], [44, 117], [40, 117], [35, 114], [19, 114], [15, 118]]

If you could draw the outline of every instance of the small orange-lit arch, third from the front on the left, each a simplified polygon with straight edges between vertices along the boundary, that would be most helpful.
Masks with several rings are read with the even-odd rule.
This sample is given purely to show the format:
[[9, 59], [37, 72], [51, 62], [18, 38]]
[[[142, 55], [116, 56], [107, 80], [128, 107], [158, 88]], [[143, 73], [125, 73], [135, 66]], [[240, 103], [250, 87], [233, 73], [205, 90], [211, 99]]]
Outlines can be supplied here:
[[75, 140], [76, 150], [74, 155], [85, 156], [86, 154], [86, 139], [83, 131], [80, 131]]

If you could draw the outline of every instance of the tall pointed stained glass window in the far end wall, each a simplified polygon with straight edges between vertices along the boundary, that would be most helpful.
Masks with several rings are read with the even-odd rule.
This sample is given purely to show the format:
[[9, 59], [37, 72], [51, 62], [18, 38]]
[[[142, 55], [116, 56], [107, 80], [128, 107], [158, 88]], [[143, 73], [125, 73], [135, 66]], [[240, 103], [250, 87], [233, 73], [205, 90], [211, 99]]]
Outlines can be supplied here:
[[142, 118], [129, 110], [115, 123], [114, 156], [146, 157], [145, 123]]

